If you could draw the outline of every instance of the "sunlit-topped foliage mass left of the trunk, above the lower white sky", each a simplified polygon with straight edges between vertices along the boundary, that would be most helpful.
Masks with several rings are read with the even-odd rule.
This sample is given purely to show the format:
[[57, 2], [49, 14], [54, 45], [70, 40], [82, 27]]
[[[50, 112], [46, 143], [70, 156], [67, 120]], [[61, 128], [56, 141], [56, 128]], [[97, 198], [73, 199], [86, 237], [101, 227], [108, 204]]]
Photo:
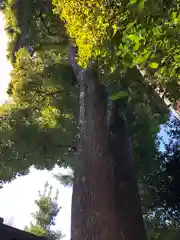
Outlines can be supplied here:
[[15, 172], [31, 165], [51, 169], [57, 160], [63, 163], [77, 131], [74, 76], [68, 66], [50, 57], [47, 64], [25, 49], [16, 59], [8, 90], [12, 102], [0, 107], [1, 165]]

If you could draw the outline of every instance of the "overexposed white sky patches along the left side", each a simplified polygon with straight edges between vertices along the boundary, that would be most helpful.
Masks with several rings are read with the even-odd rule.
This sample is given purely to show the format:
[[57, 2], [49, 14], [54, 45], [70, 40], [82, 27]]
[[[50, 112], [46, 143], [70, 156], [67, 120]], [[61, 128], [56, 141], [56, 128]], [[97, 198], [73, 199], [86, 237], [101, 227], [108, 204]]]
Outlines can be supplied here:
[[[9, 83], [11, 65], [6, 59], [7, 41], [8, 38], [4, 32], [4, 19], [0, 13], [0, 104], [8, 99], [6, 89]], [[3, 217], [7, 224], [24, 229], [25, 225], [33, 220], [31, 213], [36, 211], [34, 200], [38, 197], [38, 191], [42, 190], [45, 182], [48, 181], [53, 185], [54, 192], [59, 190], [58, 202], [62, 207], [55, 228], [61, 229], [66, 235], [64, 239], [69, 240], [72, 189], [61, 185], [53, 175], [62, 171], [57, 167], [53, 171], [39, 171], [31, 168], [29, 175], [5, 184], [0, 190], [0, 217]]]

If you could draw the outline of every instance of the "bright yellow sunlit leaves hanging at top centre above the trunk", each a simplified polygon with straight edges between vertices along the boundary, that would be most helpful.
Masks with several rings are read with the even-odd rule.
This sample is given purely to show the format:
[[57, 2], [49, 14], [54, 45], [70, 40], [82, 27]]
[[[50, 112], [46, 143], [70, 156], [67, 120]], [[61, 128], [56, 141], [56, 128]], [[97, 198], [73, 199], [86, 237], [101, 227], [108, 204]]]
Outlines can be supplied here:
[[[108, 30], [113, 16], [113, 9], [107, 9], [104, 1], [98, 0], [68, 0], [53, 3], [57, 5], [56, 12], [60, 10], [61, 18], [66, 21], [66, 27], [71, 38], [75, 39], [79, 47], [81, 65], [87, 66], [88, 60], [93, 56], [102, 54], [93, 49], [108, 38]], [[78, 31], [77, 31], [78, 30]]]

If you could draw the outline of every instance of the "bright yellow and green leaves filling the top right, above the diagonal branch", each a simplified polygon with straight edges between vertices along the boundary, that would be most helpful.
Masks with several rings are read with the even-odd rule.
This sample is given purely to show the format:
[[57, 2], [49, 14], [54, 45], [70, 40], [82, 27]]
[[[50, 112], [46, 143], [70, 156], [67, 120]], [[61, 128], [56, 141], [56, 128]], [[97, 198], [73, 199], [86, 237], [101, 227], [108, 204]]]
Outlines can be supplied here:
[[102, 68], [108, 65], [110, 72], [117, 65], [123, 72], [140, 66], [178, 99], [179, 0], [53, 2], [78, 46], [82, 66], [94, 58], [98, 58]]

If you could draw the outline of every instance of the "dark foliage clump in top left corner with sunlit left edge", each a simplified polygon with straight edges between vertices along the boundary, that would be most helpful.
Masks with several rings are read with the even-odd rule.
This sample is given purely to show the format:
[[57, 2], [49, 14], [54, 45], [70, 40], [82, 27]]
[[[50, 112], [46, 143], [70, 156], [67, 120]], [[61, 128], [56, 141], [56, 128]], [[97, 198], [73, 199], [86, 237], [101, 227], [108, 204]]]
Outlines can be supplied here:
[[6, 31], [10, 37], [8, 56], [14, 63], [16, 52], [22, 48], [32, 54], [44, 45], [67, 42], [65, 29], [53, 14], [50, 0], [12, 0], [5, 4]]

